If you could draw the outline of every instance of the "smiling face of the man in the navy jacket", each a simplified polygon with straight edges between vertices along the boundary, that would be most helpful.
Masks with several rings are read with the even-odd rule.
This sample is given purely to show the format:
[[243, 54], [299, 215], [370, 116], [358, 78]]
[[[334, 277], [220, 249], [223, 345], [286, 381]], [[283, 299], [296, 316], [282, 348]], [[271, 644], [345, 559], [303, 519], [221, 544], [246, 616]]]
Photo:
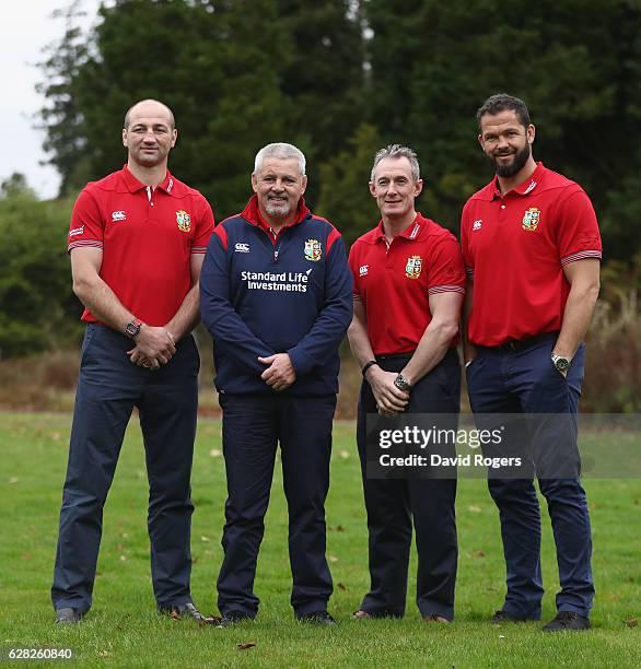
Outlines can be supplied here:
[[266, 157], [252, 175], [260, 213], [271, 224], [291, 223], [306, 186], [307, 177], [295, 159]]

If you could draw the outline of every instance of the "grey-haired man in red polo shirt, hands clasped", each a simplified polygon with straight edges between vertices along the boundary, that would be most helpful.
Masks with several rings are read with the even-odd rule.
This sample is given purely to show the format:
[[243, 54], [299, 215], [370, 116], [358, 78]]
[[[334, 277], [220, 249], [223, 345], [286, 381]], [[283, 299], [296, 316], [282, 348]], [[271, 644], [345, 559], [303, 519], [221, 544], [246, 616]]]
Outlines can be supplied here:
[[378, 151], [370, 190], [382, 220], [349, 255], [354, 316], [348, 337], [363, 373], [357, 439], [370, 532], [371, 588], [359, 619], [404, 614], [412, 521], [421, 615], [439, 622], [454, 615], [456, 479], [378, 479], [366, 471], [368, 414], [456, 416], [459, 410], [465, 272], [454, 235], [415, 209], [422, 186], [411, 149]]

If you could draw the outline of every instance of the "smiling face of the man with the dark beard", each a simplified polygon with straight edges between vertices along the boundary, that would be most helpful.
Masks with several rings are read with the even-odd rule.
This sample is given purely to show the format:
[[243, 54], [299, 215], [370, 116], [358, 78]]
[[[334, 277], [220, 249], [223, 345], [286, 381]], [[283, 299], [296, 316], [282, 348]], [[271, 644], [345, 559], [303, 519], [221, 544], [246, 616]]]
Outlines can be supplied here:
[[478, 141], [498, 176], [517, 175], [532, 159], [534, 126], [524, 127], [513, 109], [485, 114], [480, 119]]

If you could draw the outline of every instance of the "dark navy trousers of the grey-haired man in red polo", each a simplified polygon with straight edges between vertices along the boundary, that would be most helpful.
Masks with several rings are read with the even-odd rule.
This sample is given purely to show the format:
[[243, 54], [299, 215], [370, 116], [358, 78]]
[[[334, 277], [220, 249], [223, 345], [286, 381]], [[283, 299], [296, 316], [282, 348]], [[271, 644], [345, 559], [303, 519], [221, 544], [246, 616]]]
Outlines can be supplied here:
[[[380, 357], [378, 364], [386, 372], [400, 372], [409, 357]], [[457, 415], [459, 408], [461, 364], [456, 351], [450, 350], [439, 365], [411, 389], [406, 411]], [[451, 620], [454, 617], [458, 559], [454, 510], [456, 479], [368, 478], [366, 415], [376, 411], [370, 384], [363, 380], [357, 441], [368, 512], [371, 585], [361, 610], [374, 617], [401, 617], [405, 613], [413, 521], [419, 611], [421, 615], [442, 615]]]

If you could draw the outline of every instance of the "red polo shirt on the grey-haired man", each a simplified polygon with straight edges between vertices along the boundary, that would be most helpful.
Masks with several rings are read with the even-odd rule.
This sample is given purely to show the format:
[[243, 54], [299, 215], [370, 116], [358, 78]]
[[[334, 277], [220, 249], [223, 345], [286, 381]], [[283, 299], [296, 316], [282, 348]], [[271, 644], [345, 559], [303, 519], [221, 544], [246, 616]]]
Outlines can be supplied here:
[[432, 320], [429, 296], [465, 293], [458, 242], [420, 213], [389, 246], [381, 221], [354, 242], [349, 265], [354, 300], [364, 303], [375, 355], [413, 351]]

